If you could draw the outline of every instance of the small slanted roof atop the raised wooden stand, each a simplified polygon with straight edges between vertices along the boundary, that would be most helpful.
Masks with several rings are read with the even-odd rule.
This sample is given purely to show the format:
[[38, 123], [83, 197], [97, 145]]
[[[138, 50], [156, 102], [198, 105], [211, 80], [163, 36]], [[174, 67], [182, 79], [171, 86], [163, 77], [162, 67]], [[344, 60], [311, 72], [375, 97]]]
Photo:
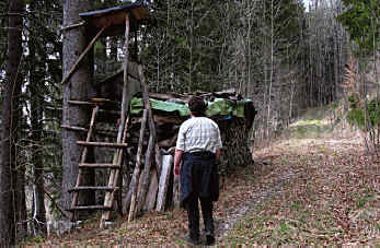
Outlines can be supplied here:
[[129, 15], [131, 31], [137, 29], [138, 25], [147, 21], [149, 16], [147, 7], [141, 2], [128, 2], [105, 10], [80, 13], [79, 15], [85, 21], [90, 34], [96, 34], [104, 26], [107, 26], [102, 36], [114, 36], [124, 35], [126, 13], [131, 13]]

